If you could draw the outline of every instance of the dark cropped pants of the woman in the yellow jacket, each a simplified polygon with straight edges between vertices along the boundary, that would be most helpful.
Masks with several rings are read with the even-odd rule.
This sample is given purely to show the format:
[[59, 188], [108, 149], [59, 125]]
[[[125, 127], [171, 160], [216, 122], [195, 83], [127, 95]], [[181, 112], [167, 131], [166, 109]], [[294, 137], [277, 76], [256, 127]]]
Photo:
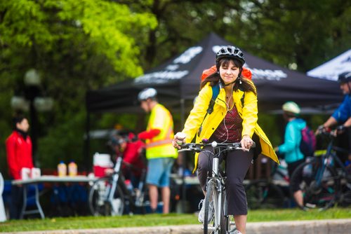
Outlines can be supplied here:
[[[207, 148], [208, 151], [199, 154], [199, 161], [197, 163], [197, 172], [201, 188], [206, 191], [207, 172], [212, 168], [213, 153], [210, 153], [211, 147]], [[253, 151], [235, 150], [227, 153], [225, 158], [227, 174], [227, 201], [228, 201], [228, 214], [232, 215], [246, 215], [247, 214], [247, 201], [244, 188], [244, 177], [249, 170], [251, 160], [253, 158]], [[223, 156], [220, 156], [220, 162]]]

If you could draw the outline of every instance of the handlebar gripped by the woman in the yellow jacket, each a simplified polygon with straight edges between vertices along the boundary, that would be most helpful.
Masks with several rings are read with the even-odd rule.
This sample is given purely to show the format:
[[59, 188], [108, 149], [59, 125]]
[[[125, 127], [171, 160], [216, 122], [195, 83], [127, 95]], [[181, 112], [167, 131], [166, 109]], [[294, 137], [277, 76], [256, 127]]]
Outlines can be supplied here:
[[[212, 148], [226, 148], [227, 151], [232, 151], [236, 149], [242, 149], [241, 148], [241, 143], [240, 142], [234, 142], [234, 143], [218, 143], [216, 141], [211, 142], [211, 143], [187, 143], [187, 144], [182, 144], [180, 147], [182, 149], [179, 149], [178, 152], [183, 152], [183, 151], [195, 151], [197, 153], [203, 151], [205, 146], [211, 146]], [[253, 142], [253, 145], [251, 148], [255, 148], [256, 143]]]

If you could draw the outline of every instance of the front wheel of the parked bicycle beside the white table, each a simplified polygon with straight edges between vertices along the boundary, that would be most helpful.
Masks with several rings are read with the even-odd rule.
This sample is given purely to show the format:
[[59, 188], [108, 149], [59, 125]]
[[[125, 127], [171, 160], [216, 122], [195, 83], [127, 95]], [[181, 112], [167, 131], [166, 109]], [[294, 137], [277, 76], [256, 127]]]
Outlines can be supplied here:
[[112, 178], [103, 177], [91, 186], [88, 196], [89, 209], [94, 216], [122, 215], [124, 212], [124, 193], [116, 186], [113, 199], [109, 197], [112, 188]]

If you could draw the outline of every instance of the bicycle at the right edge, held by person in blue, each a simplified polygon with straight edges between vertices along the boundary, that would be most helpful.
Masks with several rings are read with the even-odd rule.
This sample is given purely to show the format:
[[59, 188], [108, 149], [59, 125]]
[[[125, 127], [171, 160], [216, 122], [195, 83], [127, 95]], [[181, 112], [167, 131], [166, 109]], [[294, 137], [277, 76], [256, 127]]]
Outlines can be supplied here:
[[348, 151], [334, 146], [335, 136], [330, 131], [323, 131], [322, 135], [329, 138], [326, 151], [315, 153], [314, 158], [298, 166], [291, 176], [291, 181], [297, 182], [303, 192], [303, 206], [299, 205], [303, 210], [322, 211], [338, 202], [351, 203], [351, 175], [336, 155]]

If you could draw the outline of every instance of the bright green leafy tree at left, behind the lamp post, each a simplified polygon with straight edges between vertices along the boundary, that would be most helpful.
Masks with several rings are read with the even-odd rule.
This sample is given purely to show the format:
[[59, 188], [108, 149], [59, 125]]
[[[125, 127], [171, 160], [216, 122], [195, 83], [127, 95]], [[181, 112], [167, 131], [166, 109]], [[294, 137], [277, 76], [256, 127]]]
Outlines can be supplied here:
[[39, 114], [41, 166], [81, 155], [86, 91], [142, 74], [143, 34], [156, 25], [150, 13], [115, 1], [1, 1], [0, 125], [10, 126], [12, 113], [4, 110], [21, 94], [25, 71], [35, 68], [43, 95], [55, 99], [51, 113]]

